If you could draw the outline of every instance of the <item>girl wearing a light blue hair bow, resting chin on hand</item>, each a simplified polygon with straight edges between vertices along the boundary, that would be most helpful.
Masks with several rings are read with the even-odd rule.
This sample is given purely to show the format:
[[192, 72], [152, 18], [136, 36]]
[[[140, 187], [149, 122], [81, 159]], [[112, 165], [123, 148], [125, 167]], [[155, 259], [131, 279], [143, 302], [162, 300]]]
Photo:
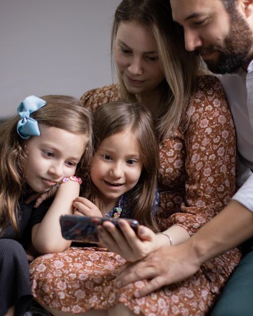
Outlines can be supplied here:
[[[32, 300], [24, 249], [63, 251], [59, 216], [73, 213], [92, 155], [92, 120], [79, 100], [30, 96], [0, 126], [0, 316], [20, 316]], [[27, 196], [57, 189], [33, 208]]]

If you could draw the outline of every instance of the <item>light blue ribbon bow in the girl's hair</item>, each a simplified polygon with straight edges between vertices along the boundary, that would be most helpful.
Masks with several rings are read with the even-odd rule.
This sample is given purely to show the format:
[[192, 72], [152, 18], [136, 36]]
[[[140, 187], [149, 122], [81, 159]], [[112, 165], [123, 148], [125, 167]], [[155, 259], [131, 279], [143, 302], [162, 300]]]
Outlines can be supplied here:
[[25, 98], [18, 106], [17, 112], [20, 120], [17, 124], [17, 132], [23, 140], [28, 140], [31, 136], [39, 136], [38, 122], [30, 117], [32, 112], [37, 111], [47, 102], [35, 96]]

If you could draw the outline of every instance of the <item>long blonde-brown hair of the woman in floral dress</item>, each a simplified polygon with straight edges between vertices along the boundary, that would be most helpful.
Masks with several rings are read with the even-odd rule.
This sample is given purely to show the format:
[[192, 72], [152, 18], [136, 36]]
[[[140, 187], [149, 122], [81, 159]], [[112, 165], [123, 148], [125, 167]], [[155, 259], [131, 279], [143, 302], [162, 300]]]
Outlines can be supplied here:
[[[200, 69], [200, 57], [187, 52], [183, 30], [173, 21], [168, 0], [123, 0], [117, 7], [111, 33], [112, 68], [117, 30], [121, 22], [135, 21], [147, 27], [154, 35], [158, 60], [165, 79], [160, 84], [161, 101], [157, 116], [159, 139], [170, 137], [180, 126], [187, 127], [185, 117], [196, 86], [196, 75]], [[137, 102], [136, 96], [129, 93], [119, 74], [119, 89], [123, 100]]]

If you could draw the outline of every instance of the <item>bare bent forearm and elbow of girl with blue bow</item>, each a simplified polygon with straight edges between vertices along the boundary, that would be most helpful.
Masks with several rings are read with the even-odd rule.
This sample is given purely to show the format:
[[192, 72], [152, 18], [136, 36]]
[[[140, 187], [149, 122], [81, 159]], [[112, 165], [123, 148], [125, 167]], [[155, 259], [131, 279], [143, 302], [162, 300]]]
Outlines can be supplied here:
[[32, 244], [39, 253], [62, 252], [71, 241], [61, 235], [59, 218], [64, 214], [73, 214], [73, 200], [79, 195], [79, 184], [68, 181], [60, 185], [55, 199], [39, 224], [32, 228]]

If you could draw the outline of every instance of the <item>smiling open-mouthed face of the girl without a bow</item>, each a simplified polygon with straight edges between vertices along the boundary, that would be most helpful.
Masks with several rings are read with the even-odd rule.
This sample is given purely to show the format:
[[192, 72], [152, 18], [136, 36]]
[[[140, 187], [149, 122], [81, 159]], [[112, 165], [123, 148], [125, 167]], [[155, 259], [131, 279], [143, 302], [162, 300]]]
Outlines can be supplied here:
[[119, 197], [138, 183], [142, 171], [141, 153], [130, 128], [104, 139], [96, 152], [91, 178], [104, 202]]

